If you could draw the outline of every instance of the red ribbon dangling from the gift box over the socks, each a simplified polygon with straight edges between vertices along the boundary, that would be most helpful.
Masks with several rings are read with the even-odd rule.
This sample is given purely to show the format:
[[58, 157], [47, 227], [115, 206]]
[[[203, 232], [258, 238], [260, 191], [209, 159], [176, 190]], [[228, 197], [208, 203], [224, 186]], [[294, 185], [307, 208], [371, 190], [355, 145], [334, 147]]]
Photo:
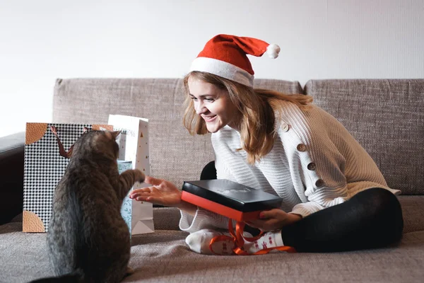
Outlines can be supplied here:
[[[209, 243], [209, 250], [212, 251], [212, 253], [215, 253], [212, 249], [212, 244], [219, 242], [219, 241], [232, 241], [234, 243], [235, 247], [232, 249], [232, 251], [236, 255], [264, 255], [266, 253], [269, 253], [271, 250], [280, 250], [288, 253], [296, 253], [295, 248], [290, 246], [280, 246], [280, 247], [273, 247], [273, 248], [264, 248], [263, 250], [259, 250], [256, 253], [247, 253], [243, 249], [243, 245], [245, 244], [245, 241], [248, 242], [254, 242], [257, 241], [259, 238], [261, 238], [262, 235], [264, 235], [264, 232], [261, 231], [258, 236], [252, 237], [252, 238], [244, 238], [243, 237], [243, 231], [245, 230], [245, 222], [237, 221], [235, 224], [235, 231], [232, 227], [232, 219], [228, 221], [228, 231], [230, 231], [231, 236], [226, 235], [220, 235], [215, 236], [212, 238], [211, 243]], [[215, 253], [217, 254], [217, 253]], [[218, 254], [217, 254], [218, 255]]]

